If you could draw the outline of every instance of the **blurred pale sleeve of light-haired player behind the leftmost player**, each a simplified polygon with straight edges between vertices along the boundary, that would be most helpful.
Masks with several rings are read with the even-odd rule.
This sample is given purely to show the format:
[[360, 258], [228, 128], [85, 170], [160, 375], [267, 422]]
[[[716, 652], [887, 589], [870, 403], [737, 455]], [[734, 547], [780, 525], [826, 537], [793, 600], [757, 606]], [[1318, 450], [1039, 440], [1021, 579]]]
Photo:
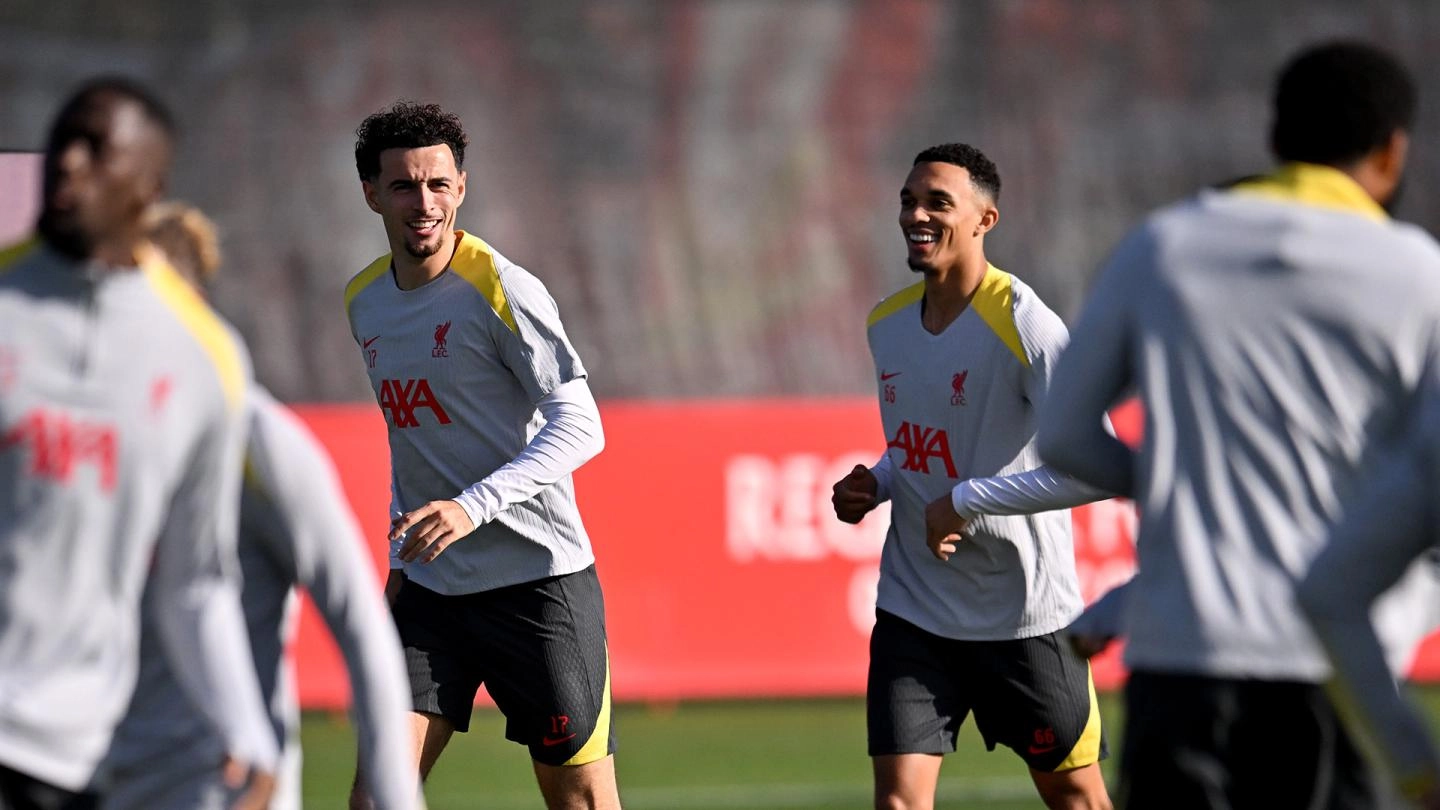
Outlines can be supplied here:
[[268, 552], [310, 592], [344, 656], [360, 771], [377, 807], [418, 806], [410, 761], [410, 689], [400, 640], [334, 464], [288, 411], [269, 405], [252, 441], [255, 487], [276, 532]]

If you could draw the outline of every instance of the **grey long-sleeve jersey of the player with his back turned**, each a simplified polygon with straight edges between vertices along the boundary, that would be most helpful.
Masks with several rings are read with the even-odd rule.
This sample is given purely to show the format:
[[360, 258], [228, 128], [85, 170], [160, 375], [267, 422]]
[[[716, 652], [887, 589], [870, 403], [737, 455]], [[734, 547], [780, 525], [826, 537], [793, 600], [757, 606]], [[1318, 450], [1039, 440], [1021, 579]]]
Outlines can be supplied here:
[[[1440, 248], [1344, 173], [1289, 164], [1161, 209], [1090, 295], [1045, 458], [1135, 490], [1132, 669], [1319, 682], [1295, 585], [1440, 350]], [[1139, 388], [1139, 454], [1099, 430]]]

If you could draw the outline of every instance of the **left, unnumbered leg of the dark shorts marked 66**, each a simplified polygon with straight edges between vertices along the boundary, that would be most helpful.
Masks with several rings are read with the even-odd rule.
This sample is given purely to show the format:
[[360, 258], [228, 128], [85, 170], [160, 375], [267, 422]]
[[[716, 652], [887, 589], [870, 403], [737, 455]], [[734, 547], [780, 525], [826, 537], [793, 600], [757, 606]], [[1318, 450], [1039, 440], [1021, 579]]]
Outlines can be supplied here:
[[958, 644], [876, 611], [865, 679], [871, 757], [949, 754], [969, 713], [968, 677]]

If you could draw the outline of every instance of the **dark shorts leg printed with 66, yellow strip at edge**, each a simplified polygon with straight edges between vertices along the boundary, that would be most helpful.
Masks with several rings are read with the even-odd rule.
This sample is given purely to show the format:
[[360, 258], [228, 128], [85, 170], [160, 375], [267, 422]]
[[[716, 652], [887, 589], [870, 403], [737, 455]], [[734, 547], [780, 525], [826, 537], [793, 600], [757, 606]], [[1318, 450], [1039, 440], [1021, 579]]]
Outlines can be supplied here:
[[1054, 633], [969, 643], [975, 726], [986, 747], [1015, 751], [1032, 771], [1093, 765], [1106, 757], [1090, 662]]

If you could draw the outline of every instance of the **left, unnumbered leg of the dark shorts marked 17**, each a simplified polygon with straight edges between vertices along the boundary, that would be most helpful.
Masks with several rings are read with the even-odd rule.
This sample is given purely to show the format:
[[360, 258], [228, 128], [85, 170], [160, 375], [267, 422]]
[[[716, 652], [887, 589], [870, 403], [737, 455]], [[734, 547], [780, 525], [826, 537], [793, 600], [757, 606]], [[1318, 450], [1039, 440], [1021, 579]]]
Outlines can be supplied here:
[[468, 626], [469, 614], [477, 610], [477, 597], [446, 597], [406, 581], [390, 607], [405, 649], [410, 708], [418, 713], [442, 716], [461, 732], [469, 731], [475, 695], [485, 679]]

